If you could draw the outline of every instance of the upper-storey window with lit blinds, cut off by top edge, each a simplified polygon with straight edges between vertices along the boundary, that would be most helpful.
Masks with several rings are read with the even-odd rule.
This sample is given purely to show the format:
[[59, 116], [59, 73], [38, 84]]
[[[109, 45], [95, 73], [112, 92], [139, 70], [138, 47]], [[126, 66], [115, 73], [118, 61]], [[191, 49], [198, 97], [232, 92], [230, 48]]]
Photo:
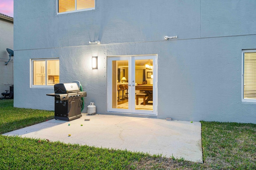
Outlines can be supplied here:
[[70, 13], [95, 9], [95, 0], [57, 0], [57, 13]]

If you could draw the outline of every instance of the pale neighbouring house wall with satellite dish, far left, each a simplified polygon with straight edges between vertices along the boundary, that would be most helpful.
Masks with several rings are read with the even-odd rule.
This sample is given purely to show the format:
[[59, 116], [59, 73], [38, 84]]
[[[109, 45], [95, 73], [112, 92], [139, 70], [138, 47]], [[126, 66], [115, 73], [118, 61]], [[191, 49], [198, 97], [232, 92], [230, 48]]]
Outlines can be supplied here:
[[13, 50], [13, 18], [0, 14], [0, 93], [10, 90], [9, 86], [13, 85], [13, 61], [5, 65], [9, 60], [7, 48]]

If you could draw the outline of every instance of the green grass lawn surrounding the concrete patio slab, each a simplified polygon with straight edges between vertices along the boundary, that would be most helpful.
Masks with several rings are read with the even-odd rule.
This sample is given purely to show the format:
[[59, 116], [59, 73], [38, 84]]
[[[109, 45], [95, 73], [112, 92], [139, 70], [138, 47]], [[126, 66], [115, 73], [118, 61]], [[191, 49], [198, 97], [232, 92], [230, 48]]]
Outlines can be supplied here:
[[[54, 111], [13, 107], [0, 100], [0, 134], [54, 118]], [[256, 124], [202, 121], [204, 163], [0, 135], [0, 169], [256, 169]]]

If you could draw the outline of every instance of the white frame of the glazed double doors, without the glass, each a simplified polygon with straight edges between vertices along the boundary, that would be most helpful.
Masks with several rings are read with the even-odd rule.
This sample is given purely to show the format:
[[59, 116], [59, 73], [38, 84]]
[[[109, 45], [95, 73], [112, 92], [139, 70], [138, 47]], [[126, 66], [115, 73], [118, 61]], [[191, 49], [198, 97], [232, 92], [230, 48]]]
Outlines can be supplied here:
[[[122, 56], [107, 56], [107, 112], [108, 113], [131, 113], [142, 115], [157, 115], [157, 55], [122, 55]], [[135, 80], [135, 61], [143, 59], [153, 60], [153, 109], [152, 110], [139, 110], [135, 109], [135, 86], [132, 87], [132, 80]], [[128, 109], [112, 108], [112, 61], [128, 60], [128, 80], [129, 80], [129, 99]], [[135, 82], [134, 82], [135, 84]]]

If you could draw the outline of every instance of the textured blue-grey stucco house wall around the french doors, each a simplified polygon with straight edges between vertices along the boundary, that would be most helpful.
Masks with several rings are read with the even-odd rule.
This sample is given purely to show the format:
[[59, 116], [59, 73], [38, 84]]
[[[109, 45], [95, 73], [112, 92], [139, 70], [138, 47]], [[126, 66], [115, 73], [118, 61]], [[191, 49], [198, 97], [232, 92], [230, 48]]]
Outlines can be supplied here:
[[14, 0], [14, 106], [54, 110], [46, 96], [53, 88], [30, 87], [30, 59], [59, 57], [60, 82], [79, 80], [85, 106], [112, 114], [107, 57], [156, 54], [158, 115], [151, 117], [256, 123], [256, 104], [241, 102], [242, 50], [256, 49], [255, 7], [254, 0], [96, 0], [95, 10], [56, 14], [56, 1]]

